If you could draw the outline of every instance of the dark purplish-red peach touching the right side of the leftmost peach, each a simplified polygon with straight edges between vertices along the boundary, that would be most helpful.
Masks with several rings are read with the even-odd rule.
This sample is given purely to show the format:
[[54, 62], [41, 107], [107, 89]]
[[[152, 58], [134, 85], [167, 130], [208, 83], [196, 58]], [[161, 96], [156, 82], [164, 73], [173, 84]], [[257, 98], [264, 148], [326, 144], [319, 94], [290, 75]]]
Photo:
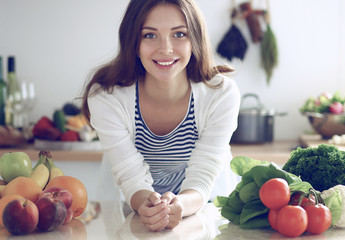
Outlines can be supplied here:
[[46, 196], [38, 199], [36, 206], [39, 212], [37, 228], [40, 231], [53, 231], [65, 221], [67, 210], [61, 200]]

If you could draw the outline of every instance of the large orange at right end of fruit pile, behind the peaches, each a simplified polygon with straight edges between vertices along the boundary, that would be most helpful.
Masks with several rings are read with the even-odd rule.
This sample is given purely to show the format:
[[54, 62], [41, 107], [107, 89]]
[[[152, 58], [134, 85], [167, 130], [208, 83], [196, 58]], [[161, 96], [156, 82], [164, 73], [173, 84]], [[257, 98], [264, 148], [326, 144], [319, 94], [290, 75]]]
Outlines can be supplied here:
[[80, 216], [86, 209], [87, 191], [84, 184], [77, 178], [72, 176], [58, 176], [53, 178], [46, 188], [60, 187], [68, 190], [73, 196], [72, 210], [73, 217]]

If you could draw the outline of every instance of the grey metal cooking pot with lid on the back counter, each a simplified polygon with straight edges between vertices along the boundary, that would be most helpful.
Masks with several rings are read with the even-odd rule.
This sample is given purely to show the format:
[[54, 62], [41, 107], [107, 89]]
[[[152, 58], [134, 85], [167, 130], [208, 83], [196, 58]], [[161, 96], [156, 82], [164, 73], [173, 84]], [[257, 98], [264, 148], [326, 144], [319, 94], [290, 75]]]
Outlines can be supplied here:
[[[244, 100], [254, 98], [256, 105], [243, 107]], [[266, 109], [259, 97], [254, 93], [247, 93], [242, 97], [238, 114], [238, 125], [231, 143], [266, 143], [273, 141], [274, 117], [286, 115], [276, 113], [274, 109]]]

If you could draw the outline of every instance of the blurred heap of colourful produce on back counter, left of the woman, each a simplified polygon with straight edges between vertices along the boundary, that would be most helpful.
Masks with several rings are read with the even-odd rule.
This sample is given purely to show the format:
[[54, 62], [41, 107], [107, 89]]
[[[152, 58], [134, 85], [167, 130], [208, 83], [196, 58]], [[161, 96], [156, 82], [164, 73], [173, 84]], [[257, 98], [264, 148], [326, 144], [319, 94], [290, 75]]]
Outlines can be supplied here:
[[41, 117], [33, 127], [34, 138], [54, 141], [92, 141], [96, 132], [87, 124], [80, 109], [73, 103], [66, 103], [55, 110], [52, 118]]

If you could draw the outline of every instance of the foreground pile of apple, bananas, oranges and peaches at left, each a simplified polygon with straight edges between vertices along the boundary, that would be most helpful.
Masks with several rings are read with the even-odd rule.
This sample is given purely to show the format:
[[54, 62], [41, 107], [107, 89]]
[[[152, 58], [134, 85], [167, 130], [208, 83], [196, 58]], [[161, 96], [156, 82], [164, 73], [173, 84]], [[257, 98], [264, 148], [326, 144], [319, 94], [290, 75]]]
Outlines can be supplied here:
[[0, 170], [0, 225], [14, 235], [56, 230], [86, 209], [85, 186], [65, 176], [49, 151], [39, 152], [33, 168], [26, 153], [5, 153]]

